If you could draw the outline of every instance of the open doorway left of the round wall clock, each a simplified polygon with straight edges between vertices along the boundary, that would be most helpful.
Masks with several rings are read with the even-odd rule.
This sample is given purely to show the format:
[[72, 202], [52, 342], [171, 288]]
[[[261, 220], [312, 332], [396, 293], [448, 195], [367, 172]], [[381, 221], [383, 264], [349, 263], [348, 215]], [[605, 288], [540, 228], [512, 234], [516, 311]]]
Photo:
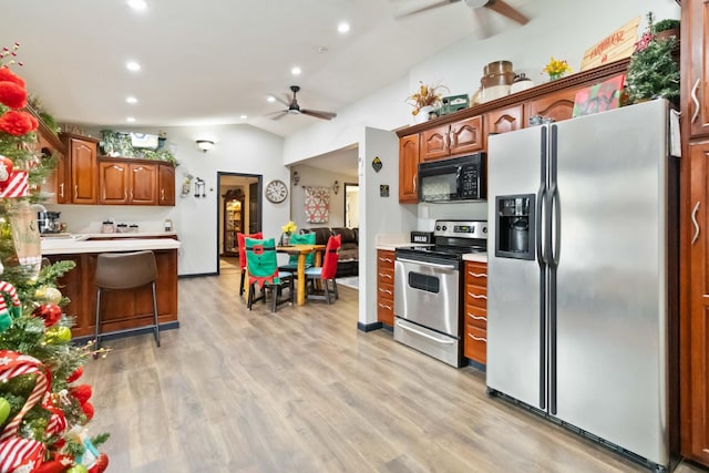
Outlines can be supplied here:
[[258, 174], [217, 173], [217, 275], [240, 271], [236, 235], [261, 229], [261, 182]]

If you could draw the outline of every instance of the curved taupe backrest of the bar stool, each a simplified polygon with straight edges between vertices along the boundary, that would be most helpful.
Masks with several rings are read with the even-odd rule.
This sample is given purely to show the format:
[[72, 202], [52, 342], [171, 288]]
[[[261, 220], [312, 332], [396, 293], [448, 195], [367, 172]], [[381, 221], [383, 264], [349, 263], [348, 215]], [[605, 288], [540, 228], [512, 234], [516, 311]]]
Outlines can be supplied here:
[[157, 279], [155, 254], [151, 250], [104, 253], [96, 260], [95, 285], [105, 289], [131, 289]]

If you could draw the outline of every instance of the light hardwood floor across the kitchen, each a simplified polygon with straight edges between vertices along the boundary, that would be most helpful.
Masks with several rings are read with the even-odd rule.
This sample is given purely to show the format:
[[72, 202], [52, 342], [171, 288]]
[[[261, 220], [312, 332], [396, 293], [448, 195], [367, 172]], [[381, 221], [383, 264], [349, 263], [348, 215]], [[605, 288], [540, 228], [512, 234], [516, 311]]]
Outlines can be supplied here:
[[[178, 330], [89, 360], [110, 472], [634, 472], [643, 467], [357, 330], [357, 290], [246, 310], [238, 273], [179, 280]], [[681, 464], [678, 472], [701, 471]]]

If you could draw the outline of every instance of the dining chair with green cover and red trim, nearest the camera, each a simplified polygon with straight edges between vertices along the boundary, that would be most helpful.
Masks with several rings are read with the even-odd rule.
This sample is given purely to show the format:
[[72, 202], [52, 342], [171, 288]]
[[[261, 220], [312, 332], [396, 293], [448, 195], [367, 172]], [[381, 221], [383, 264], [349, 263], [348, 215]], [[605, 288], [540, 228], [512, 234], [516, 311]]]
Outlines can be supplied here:
[[[280, 304], [292, 304], [295, 297], [292, 273], [278, 270], [276, 240], [274, 238], [246, 237], [244, 243], [248, 269], [248, 296], [246, 299], [248, 309], [251, 310], [253, 304], [257, 300], [263, 300], [265, 304], [267, 292], [271, 292], [271, 312], [275, 312]], [[256, 297], [257, 286], [261, 290], [260, 297]], [[284, 289], [288, 289], [287, 298], [281, 297]]]

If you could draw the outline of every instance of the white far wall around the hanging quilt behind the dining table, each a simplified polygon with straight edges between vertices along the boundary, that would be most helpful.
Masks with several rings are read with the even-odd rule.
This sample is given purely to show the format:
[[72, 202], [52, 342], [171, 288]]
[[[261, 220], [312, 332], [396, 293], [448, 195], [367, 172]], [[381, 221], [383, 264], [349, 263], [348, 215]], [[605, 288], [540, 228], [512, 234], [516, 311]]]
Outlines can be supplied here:
[[[307, 165], [296, 165], [291, 171], [297, 171], [300, 183], [291, 187], [291, 212], [290, 217], [300, 228], [310, 227], [343, 227], [345, 226], [345, 183], [357, 182], [357, 178], [347, 174], [333, 173]], [[335, 181], [338, 181], [340, 189], [336, 195], [332, 191]], [[305, 189], [304, 187], [327, 187], [330, 189], [330, 215], [328, 222], [321, 224], [310, 224], [306, 220], [305, 213]]]

